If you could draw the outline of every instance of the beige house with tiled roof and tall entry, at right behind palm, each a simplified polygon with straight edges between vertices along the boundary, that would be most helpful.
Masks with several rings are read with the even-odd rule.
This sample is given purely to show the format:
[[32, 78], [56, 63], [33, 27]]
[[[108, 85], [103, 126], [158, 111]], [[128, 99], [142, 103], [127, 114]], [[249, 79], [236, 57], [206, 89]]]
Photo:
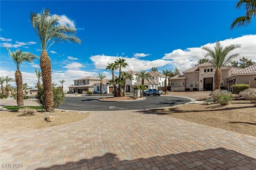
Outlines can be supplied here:
[[[233, 66], [222, 66], [221, 89], [232, 91], [233, 84], [249, 84], [256, 76], [255, 64], [248, 68], [238, 68]], [[216, 68], [213, 63], [203, 63], [183, 71], [182, 75], [171, 77], [171, 89], [174, 91], [185, 90], [213, 90], [214, 72]]]

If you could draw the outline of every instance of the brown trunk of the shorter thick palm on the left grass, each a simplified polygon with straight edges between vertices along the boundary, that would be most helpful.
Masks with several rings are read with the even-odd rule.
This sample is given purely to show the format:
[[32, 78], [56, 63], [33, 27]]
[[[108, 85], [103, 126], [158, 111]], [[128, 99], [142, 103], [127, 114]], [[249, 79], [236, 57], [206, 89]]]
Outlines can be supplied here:
[[21, 75], [20, 70], [16, 70], [15, 80], [16, 80], [16, 85], [17, 85], [17, 105], [24, 106], [23, 84], [22, 84], [22, 75]]

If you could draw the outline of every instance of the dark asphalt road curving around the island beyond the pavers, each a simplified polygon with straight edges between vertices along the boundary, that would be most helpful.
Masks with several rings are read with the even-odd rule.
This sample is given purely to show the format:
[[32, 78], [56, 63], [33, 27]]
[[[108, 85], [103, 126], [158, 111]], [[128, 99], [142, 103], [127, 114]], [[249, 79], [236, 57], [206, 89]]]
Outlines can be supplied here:
[[64, 104], [58, 109], [79, 110], [79, 111], [118, 111], [118, 110], [138, 110], [169, 107], [191, 102], [187, 98], [174, 96], [145, 96], [145, 100], [133, 102], [102, 102], [97, 97], [66, 97]]

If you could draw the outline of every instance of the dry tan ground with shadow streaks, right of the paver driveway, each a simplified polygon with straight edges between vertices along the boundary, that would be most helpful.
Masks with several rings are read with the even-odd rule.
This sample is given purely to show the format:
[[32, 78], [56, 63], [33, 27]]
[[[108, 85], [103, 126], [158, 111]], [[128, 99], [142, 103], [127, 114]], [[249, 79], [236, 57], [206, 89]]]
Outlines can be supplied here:
[[256, 107], [247, 100], [233, 100], [227, 106], [187, 104], [152, 109], [153, 113], [256, 136]]

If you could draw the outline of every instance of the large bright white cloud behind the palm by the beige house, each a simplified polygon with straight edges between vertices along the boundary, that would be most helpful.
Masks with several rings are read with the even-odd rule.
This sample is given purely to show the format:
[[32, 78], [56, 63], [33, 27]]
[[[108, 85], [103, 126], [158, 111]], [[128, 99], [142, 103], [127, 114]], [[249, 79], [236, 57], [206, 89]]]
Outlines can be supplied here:
[[[242, 37], [238, 38], [230, 38], [225, 39], [224, 41], [220, 41], [221, 45], [223, 47], [226, 47], [230, 44], [241, 44], [241, 48], [235, 49], [230, 52], [229, 55], [234, 53], [239, 53], [240, 55], [236, 57], [234, 60], [239, 61], [240, 58], [245, 57], [249, 60], [256, 60], [256, 35], [244, 35]], [[214, 49], [215, 46], [214, 43], [208, 43], [206, 47], [210, 47]], [[204, 58], [204, 55], [206, 55], [207, 51], [201, 49], [201, 47], [192, 47], [187, 48], [185, 50], [182, 49], [176, 49], [172, 51], [171, 53], [164, 54], [164, 57], [162, 59], [165, 60], [172, 60], [172, 66], [180, 68], [180, 71], [184, 71], [186, 69], [192, 68], [198, 60]]]

